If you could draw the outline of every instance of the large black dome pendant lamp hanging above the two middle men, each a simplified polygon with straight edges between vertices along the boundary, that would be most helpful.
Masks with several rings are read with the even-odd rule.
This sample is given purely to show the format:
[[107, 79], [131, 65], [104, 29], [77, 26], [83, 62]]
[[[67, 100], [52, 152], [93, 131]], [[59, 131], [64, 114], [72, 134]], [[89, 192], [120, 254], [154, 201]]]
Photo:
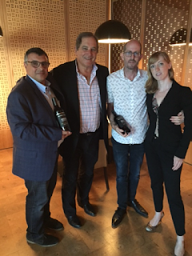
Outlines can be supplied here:
[[121, 43], [130, 40], [130, 30], [125, 24], [116, 20], [109, 20], [98, 26], [94, 35], [98, 42], [102, 43]]

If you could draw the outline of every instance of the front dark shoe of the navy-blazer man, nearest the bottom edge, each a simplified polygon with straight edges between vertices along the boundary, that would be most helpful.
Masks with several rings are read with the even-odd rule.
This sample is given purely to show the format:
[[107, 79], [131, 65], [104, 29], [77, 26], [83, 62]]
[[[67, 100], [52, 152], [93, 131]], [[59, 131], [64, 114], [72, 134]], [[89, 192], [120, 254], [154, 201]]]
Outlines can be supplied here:
[[58, 238], [56, 238], [50, 234], [44, 234], [42, 238], [39, 238], [37, 240], [27, 238], [27, 235], [26, 235], [26, 241], [31, 244], [36, 244], [36, 245], [43, 246], [43, 247], [55, 246], [59, 242]]

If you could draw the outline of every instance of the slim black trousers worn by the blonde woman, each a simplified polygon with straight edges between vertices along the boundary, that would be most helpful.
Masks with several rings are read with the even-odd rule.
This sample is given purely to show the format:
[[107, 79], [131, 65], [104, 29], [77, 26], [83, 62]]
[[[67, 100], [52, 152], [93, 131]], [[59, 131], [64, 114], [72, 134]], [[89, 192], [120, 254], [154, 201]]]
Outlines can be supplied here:
[[162, 210], [163, 182], [170, 206], [170, 214], [178, 235], [185, 234], [185, 212], [180, 193], [180, 176], [182, 166], [172, 170], [174, 165], [174, 149], [162, 146], [158, 138], [145, 142], [146, 161], [151, 179], [154, 196], [154, 207], [157, 212]]

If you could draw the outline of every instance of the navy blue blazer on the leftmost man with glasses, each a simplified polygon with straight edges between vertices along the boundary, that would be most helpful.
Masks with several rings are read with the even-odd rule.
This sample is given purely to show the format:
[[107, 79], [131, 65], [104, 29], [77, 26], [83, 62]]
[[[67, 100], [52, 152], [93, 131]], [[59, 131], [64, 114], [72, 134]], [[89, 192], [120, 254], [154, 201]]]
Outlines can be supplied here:
[[[51, 88], [64, 102], [58, 87], [51, 84]], [[25, 180], [49, 180], [62, 130], [46, 98], [28, 76], [19, 79], [10, 92], [6, 114], [14, 139], [13, 174]]]

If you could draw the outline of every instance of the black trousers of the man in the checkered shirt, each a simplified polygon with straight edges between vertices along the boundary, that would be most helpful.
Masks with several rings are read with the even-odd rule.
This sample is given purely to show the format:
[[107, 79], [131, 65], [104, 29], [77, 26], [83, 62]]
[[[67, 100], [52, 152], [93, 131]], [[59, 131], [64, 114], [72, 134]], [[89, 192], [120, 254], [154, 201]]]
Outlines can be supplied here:
[[70, 158], [63, 157], [62, 206], [66, 217], [76, 214], [75, 195], [82, 205], [89, 202], [94, 178], [94, 165], [98, 161], [99, 131], [79, 134], [78, 145]]

